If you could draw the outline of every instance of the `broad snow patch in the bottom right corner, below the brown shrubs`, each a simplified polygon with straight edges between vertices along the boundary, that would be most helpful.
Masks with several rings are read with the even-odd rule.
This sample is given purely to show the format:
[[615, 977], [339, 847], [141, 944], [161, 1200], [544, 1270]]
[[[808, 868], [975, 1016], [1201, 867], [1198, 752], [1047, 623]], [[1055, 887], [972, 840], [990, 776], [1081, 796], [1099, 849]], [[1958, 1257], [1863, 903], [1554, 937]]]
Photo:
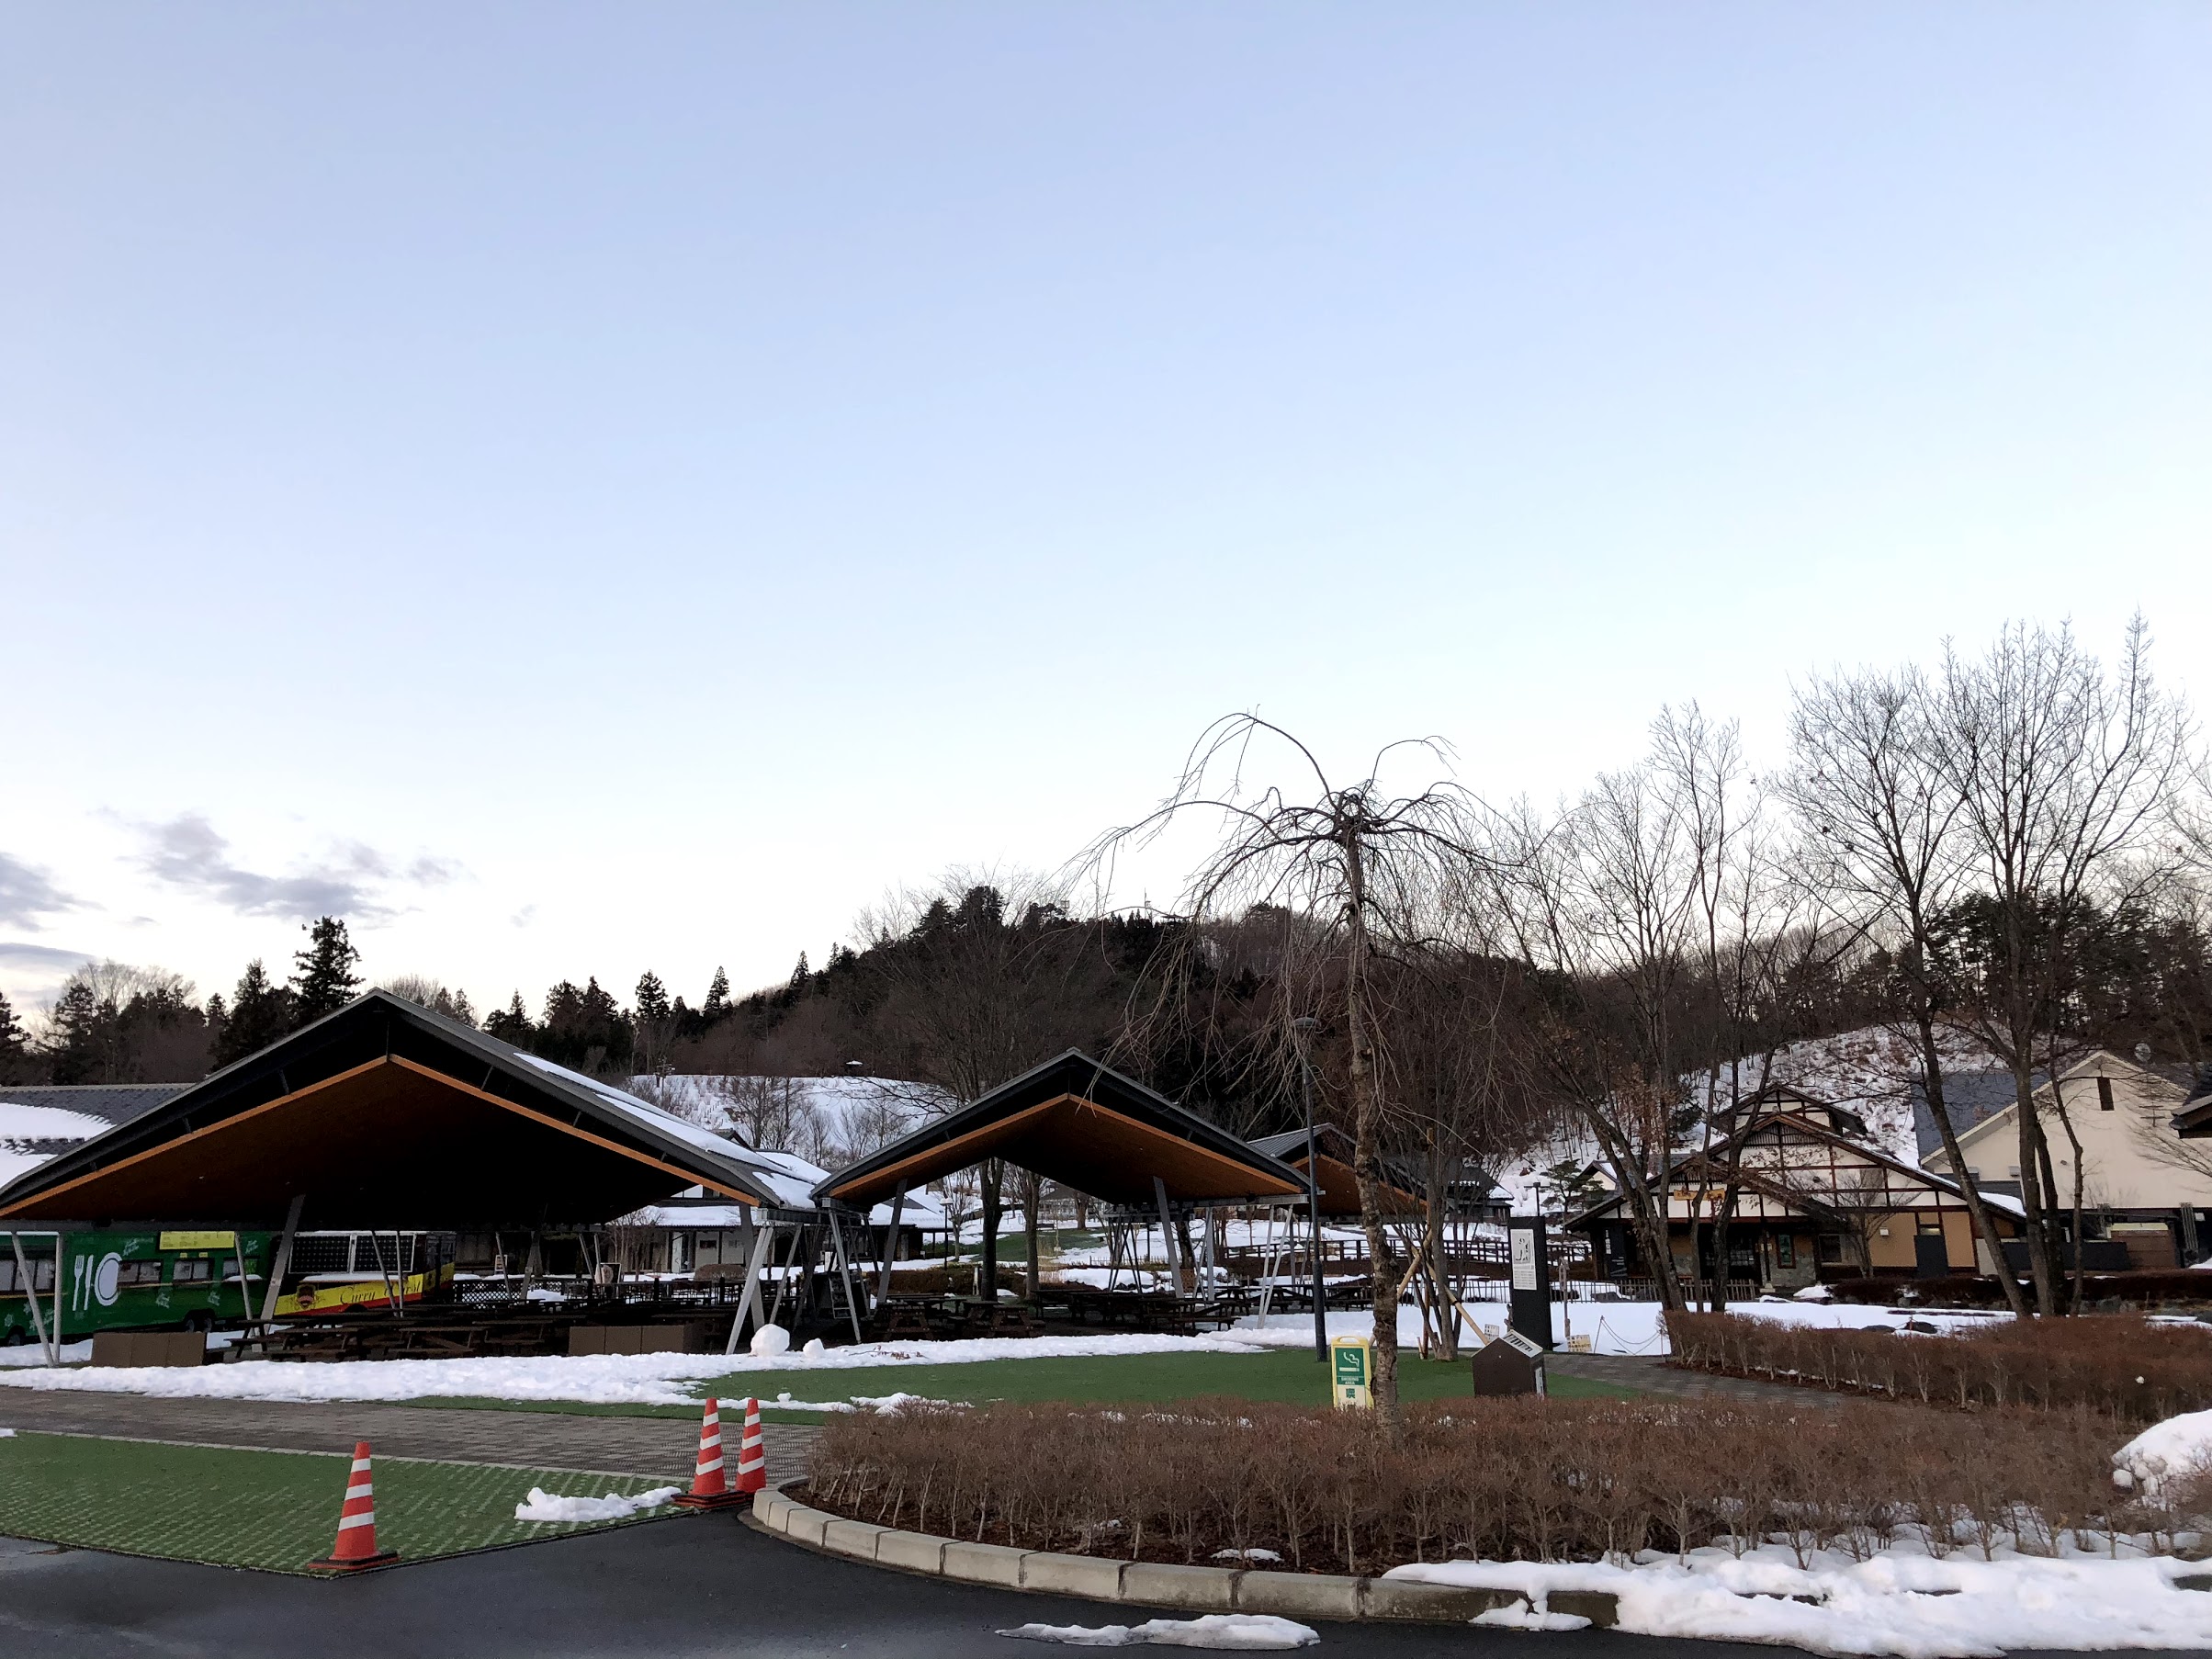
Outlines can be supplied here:
[[[1537, 1615], [1553, 1590], [1610, 1590], [1619, 1628], [1648, 1637], [1776, 1641], [1834, 1655], [1997, 1655], [2013, 1648], [2212, 1648], [2212, 1595], [2174, 1588], [2199, 1562], [2112, 1553], [1995, 1559], [1958, 1551], [1942, 1559], [1900, 1540], [1867, 1562], [1843, 1551], [1761, 1544], [1686, 1559], [1644, 1553], [1632, 1566], [1544, 1562], [1440, 1562], [1398, 1566], [1394, 1579], [1513, 1590]], [[1540, 1626], [1520, 1626], [1540, 1628]]]

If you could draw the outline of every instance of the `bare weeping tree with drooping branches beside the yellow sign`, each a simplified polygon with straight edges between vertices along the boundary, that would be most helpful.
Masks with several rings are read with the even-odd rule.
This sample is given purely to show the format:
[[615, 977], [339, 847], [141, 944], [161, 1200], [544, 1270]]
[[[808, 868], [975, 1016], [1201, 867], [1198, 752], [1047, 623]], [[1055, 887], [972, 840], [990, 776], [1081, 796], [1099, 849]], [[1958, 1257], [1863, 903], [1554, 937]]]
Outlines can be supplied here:
[[[1254, 743], [1287, 752], [1296, 794], [1245, 781]], [[1391, 743], [1354, 781], [1327, 768], [1283, 728], [1256, 714], [1214, 721], [1192, 745], [1172, 794], [1144, 821], [1113, 830], [1086, 852], [1084, 867], [1106, 889], [1119, 854], [1148, 845], [1190, 814], [1214, 816], [1221, 843], [1183, 889], [1186, 933], [1203, 949], [1203, 925], [1237, 920], [1259, 907], [1290, 911], [1285, 929], [1279, 1053], [1292, 1055], [1290, 1020], [1310, 1013], [1305, 995], [1327, 989], [1336, 1031], [1323, 1071], [1340, 1064], [1352, 1108], [1352, 1172], [1374, 1287], [1374, 1400], [1383, 1429], [1398, 1438], [1398, 1301], [1418, 1256], [1396, 1248], [1385, 1199], [1394, 1009], [1378, 958], [1422, 949], [1438, 936], [1442, 894], [1480, 863], [1475, 801], [1449, 781], [1394, 796], [1380, 781], [1396, 750], [1442, 763], [1436, 739]], [[1318, 1013], [1318, 1009], [1316, 1009]]]

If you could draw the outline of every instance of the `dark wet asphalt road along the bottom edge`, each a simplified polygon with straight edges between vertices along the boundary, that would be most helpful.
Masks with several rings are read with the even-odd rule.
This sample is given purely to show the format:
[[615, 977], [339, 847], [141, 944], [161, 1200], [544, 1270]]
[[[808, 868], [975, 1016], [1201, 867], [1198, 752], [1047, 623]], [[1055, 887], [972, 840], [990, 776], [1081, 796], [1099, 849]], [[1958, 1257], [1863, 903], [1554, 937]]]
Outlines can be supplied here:
[[[1024, 1659], [1082, 1652], [995, 1632], [1029, 1621], [1135, 1624], [1095, 1601], [858, 1566], [699, 1515], [316, 1582], [97, 1551], [0, 1544], [9, 1659]], [[1772, 1659], [1776, 1648], [1599, 1630], [1321, 1626], [1323, 1650], [1548, 1659]]]

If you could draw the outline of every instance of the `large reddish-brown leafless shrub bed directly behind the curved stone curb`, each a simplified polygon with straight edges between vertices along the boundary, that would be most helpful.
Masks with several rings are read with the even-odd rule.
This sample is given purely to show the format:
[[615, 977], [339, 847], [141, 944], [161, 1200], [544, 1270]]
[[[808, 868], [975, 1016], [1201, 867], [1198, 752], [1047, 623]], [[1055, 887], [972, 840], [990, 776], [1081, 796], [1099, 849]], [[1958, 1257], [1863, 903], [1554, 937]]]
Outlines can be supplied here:
[[2179, 1484], [2166, 1509], [2115, 1491], [2124, 1438], [2090, 1411], [1467, 1400], [1409, 1407], [1391, 1447], [1365, 1413], [1241, 1400], [998, 1405], [834, 1418], [812, 1449], [810, 1502], [1022, 1548], [1274, 1551], [1318, 1573], [1772, 1535], [1865, 1557], [1922, 1517], [1942, 1522], [1936, 1551], [2048, 1551], [2066, 1531], [2170, 1533], [2194, 1509]]

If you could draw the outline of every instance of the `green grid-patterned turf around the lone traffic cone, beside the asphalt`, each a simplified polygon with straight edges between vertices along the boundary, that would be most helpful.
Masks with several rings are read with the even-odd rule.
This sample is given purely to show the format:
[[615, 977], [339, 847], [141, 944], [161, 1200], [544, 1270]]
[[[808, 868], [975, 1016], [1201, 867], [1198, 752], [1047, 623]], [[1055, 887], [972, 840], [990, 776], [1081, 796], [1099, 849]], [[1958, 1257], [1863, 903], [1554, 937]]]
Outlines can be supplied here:
[[[301, 1573], [327, 1555], [349, 1458], [20, 1431], [0, 1440], [0, 1533], [173, 1562]], [[593, 1524], [518, 1522], [531, 1486], [604, 1498], [655, 1482], [376, 1460], [376, 1542], [403, 1559], [524, 1544]], [[648, 1511], [668, 1515], [670, 1511]], [[597, 1526], [624, 1522], [597, 1522]]]

